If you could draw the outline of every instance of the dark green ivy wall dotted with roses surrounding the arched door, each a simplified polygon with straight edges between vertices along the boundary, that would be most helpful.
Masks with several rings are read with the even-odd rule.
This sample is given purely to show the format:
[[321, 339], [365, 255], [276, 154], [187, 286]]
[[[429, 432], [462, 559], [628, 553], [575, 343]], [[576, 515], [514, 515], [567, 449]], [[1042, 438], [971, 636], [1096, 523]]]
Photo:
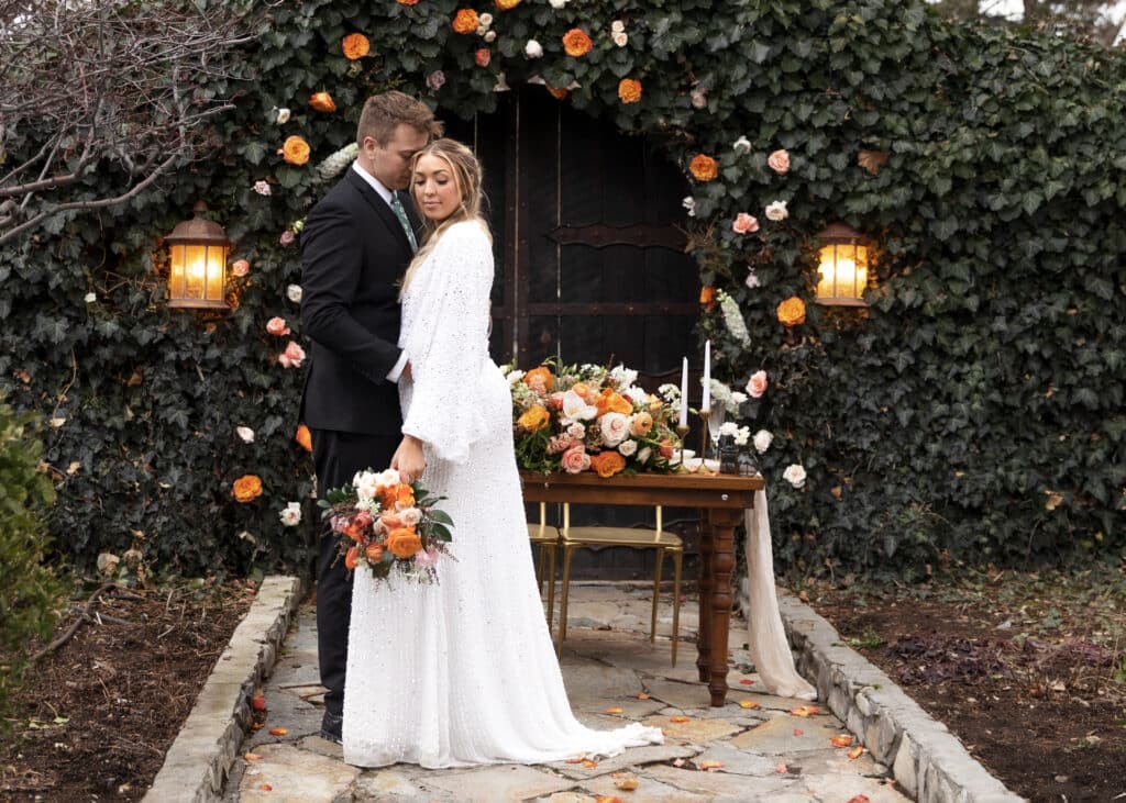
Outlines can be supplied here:
[[[744, 343], [715, 305], [701, 340], [732, 387], [767, 372], [743, 413], [774, 435], [761, 460], [784, 566], [911, 576], [1121, 554], [1120, 48], [951, 27], [921, 0], [303, 0], [256, 13], [244, 80], [206, 90], [238, 100], [213, 153], [0, 255], [0, 387], [52, 422], [51, 530], [77, 563], [131, 545], [184, 572], [303, 559], [307, 533], [280, 520], [293, 502], [311, 514], [294, 440], [304, 369], [277, 360], [302, 342], [287, 232], [343, 163], [323, 164], [368, 93], [394, 87], [464, 117], [494, 108], [501, 78], [537, 76], [560, 102], [660, 135], [690, 177], [701, 286], [726, 291], [749, 331]], [[345, 54], [352, 34], [366, 53], [352, 38]], [[311, 107], [316, 92], [337, 110]], [[309, 162], [278, 153], [293, 136]], [[768, 163], [779, 150], [787, 171]], [[249, 262], [224, 318], [162, 300], [160, 237], [198, 198]], [[767, 216], [775, 201], [784, 219]], [[757, 232], [733, 228], [740, 213]], [[812, 235], [834, 220], [878, 246], [864, 316], [813, 303]], [[777, 307], [795, 296], [805, 319], [786, 327]], [[275, 316], [292, 334], [267, 332]], [[261, 494], [244, 481], [239, 502], [245, 475]]]

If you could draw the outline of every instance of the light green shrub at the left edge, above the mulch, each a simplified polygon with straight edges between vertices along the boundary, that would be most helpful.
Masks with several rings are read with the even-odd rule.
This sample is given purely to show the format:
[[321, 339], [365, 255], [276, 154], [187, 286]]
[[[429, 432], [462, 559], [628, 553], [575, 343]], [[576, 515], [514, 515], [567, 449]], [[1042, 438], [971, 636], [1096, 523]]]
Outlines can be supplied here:
[[44, 562], [43, 516], [55, 491], [41, 454], [35, 416], [0, 403], [0, 711], [27, 667], [30, 640], [51, 637], [63, 596]]

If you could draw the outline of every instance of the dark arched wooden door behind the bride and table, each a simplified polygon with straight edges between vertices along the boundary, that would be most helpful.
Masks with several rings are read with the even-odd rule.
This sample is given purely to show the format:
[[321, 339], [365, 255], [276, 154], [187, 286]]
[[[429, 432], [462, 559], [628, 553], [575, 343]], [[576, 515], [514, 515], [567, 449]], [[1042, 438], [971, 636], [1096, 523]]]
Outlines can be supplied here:
[[[650, 390], [679, 384], [681, 359], [696, 361], [699, 271], [677, 225], [688, 187], [660, 148], [535, 85], [506, 93], [494, 114], [446, 126], [474, 146], [485, 171], [497, 362], [622, 362]], [[644, 515], [577, 511], [575, 523], [631, 525]], [[694, 512], [685, 520], [695, 521]], [[643, 560], [626, 550], [577, 560], [574, 570], [644, 576]]]

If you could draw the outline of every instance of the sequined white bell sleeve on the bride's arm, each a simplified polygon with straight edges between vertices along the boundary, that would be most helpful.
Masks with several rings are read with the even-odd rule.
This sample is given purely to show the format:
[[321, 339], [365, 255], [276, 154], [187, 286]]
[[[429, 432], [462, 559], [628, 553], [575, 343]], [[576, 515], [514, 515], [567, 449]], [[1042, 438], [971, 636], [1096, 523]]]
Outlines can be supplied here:
[[410, 355], [411, 389], [403, 433], [455, 463], [486, 434], [477, 402], [489, 362], [492, 243], [474, 222], [452, 226], [412, 277], [417, 305], [400, 345]]

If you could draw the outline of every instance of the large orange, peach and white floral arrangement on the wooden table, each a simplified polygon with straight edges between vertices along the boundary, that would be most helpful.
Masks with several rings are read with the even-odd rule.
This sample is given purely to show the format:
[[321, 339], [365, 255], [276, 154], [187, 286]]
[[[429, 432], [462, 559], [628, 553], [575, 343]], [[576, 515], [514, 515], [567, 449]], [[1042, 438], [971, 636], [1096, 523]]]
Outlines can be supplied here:
[[676, 386], [662, 386], [662, 398], [637, 387], [637, 371], [624, 366], [554, 361], [506, 376], [520, 468], [600, 477], [673, 470]]

